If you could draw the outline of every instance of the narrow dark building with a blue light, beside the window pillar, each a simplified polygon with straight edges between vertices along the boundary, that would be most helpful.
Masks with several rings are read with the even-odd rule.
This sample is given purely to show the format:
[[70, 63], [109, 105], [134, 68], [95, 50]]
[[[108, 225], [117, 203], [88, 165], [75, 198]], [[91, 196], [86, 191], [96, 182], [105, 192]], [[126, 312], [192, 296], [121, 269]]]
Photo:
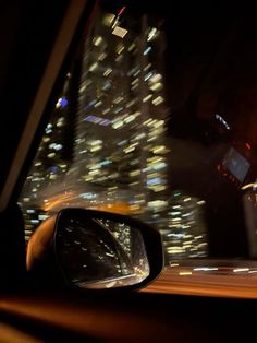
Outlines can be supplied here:
[[68, 74], [20, 198], [26, 224], [26, 239], [29, 239], [35, 227], [48, 217], [46, 190], [52, 189], [51, 197], [60, 191], [57, 185], [64, 179], [72, 163], [74, 109], [70, 100], [70, 78]]

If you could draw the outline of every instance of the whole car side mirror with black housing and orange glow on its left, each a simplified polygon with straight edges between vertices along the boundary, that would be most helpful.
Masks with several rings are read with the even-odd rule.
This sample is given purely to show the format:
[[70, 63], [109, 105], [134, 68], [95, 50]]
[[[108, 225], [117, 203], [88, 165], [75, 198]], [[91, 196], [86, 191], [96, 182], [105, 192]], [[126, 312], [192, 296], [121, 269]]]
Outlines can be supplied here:
[[44, 284], [58, 280], [78, 288], [137, 288], [155, 280], [162, 267], [156, 229], [101, 211], [61, 210], [36, 229], [27, 247], [27, 269]]

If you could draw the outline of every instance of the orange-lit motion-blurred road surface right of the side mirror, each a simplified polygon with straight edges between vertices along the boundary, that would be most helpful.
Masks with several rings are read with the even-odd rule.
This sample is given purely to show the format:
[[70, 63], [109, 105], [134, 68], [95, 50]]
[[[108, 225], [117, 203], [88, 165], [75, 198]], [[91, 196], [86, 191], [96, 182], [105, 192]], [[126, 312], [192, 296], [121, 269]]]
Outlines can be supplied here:
[[158, 280], [140, 292], [257, 298], [256, 263], [246, 261], [225, 267], [223, 261], [220, 267], [216, 263], [197, 264], [166, 267]]

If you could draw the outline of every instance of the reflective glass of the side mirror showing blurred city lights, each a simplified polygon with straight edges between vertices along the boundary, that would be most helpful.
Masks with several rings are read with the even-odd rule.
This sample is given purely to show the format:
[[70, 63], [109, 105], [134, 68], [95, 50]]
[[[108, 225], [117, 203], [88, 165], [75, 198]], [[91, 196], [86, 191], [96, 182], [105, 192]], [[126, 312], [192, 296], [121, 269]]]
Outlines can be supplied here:
[[142, 233], [122, 222], [64, 215], [56, 253], [69, 283], [85, 288], [134, 285], [149, 275]]

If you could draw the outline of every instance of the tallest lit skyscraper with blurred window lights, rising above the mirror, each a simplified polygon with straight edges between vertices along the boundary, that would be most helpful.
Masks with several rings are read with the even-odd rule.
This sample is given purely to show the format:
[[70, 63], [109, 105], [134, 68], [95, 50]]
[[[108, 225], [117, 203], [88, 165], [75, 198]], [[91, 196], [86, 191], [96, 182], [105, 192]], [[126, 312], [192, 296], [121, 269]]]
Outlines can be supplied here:
[[89, 197], [103, 191], [105, 201], [157, 218], [167, 197], [168, 109], [158, 68], [163, 37], [147, 20], [126, 17], [122, 28], [121, 17], [99, 12], [87, 35], [71, 175]]

